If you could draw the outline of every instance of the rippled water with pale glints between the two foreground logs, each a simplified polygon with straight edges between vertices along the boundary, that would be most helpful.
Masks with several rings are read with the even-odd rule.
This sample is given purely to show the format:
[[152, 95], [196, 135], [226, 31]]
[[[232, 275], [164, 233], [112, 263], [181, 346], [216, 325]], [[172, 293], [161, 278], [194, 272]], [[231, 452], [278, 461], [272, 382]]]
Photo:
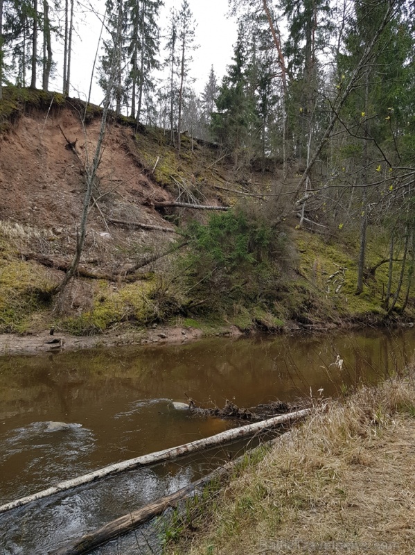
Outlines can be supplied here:
[[10, 511], [0, 515], [4, 549], [1, 555], [44, 555], [66, 545], [69, 538], [80, 538], [161, 495], [173, 493], [193, 479], [195, 470], [191, 468], [182, 468], [175, 476], [158, 475], [143, 468], [78, 488], [72, 495], [44, 499], [30, 506], [30, 510]]

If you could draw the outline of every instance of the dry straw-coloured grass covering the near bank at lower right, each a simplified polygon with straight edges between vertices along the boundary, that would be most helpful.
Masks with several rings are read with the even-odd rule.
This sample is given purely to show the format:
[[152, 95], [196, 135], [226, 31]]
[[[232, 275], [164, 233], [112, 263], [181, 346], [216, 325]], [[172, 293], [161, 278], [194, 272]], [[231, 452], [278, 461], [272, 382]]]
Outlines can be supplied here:
[[200, 505], [191, 524], [168, 553], [412, 554], [414, 371], [330, 404]]

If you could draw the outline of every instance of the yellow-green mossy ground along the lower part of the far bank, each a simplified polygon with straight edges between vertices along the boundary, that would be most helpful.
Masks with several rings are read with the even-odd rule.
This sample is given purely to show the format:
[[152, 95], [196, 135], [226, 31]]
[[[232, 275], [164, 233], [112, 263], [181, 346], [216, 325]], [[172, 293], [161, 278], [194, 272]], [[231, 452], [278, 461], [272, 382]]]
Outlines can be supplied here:
[[[187, 308], [192, 299], [186, 295], [179, 279], [171, 282], [171, 273], [147, 274], [128, 284], [90, 281], [89, 306], [82, 313], [78, 311], [56, 321], [48, 290], [58, 279], [57, 275], [35, 262], [22, 261], [18, 255], [22, 242], [28, 240], [28, 235], [33, 239], [33, 234], [41, 232], [28, 226], [0, 225], [1, 332], [25, 332], [39, 324], [47, 327], [54, 323], [73, 333], [94, 333], [120, 321], [145, 325], [168, 320], [175, 314], [193, 318], [194, 325], [201, 320], [227, 322], [242, 330], [255, 322], [270, 329], [296, 321], [317, 325], [344, 321], [380, 323], [386, 315], [382, 291], [387, 284], [387, 264], [378, 268], [376, 279], [367, 281], [364, 293], [355, 296], [356, 248], [340, 243], [342, 237], [327, 243], [315, 234], [293, 231], [298, 253], [297, 273], [288, 273], [283, 278], [283, 286], [276, 287], [274, 299], [268, 299], [267, 303], [244, 305], [242, 300], [237, 305], [224, 306], [222, 314], [217, 309], [209, 312], [209, 305], [205, 305], [204, 313], [200, 314]], [[369, 264], [382, 257], [382, 248], [379, 237], [377, 244], [369, 244]], [[396, 266], [397, 280], [400, 268]], [[337, 271], [339, 274], [329, 280]], [[339, 285], [342, 287], [336, 293]], [[403, 316], [412, 317], [412, 311], [413, 307], [409, 307]]]

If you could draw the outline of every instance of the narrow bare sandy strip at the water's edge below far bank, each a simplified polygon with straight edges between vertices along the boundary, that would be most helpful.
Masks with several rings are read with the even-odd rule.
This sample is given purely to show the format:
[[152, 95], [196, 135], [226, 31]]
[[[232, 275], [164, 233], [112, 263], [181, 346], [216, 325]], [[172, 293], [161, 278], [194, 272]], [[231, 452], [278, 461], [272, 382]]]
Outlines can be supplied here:
[[[237, 337], [242, 333], [237, 327], [218, 333]], [[0, 355], [35, 355], [39, 352], [69, 351], [94, 347], [114, 347], [116, 345], [145, 345], [148, 343], [171, 344], [188, 343], [202, 339], [204, 333], [192, 327], [154, 327], [146, 330], [128, 330], [124, 333], [108, 332], [102, 335], [74, 336], [55, 332], [53, 336], [46, 330], [39, 334], [0, 334]], [[55, 341], [51, 343], [51, 341]]]

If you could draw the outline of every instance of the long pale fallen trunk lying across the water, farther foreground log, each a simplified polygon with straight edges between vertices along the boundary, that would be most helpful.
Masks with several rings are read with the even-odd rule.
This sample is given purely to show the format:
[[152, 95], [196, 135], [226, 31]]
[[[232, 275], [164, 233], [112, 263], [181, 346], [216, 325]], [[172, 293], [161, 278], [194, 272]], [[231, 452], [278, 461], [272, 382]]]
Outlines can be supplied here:
[[104, 468], [100, 468], [94, 472], [89, 472], [88, 474], [78, 478], [61, 481], [55, 486], [51, 486], [50, 488], [34, 493], [33, 495], [20, 497], [19, 499], [15, 499], [15, 501], [3, 504], [0, 506], [0, 513], [5, 513], [11, 509], [16, 509], [17, 507], [39, 501], [39, 499], [44, 499], [45, 497], [51, 497], [51, 495], [56, 495], [57, 493], [62, 493], [78, 486], [84, 486], [92, 481], [105, 478], [109, 475], [118, 474], [119, 472], [124, 472], [125, 470], [141, 468], [143, 466], [149, 466], [163, 461], [171, 461], [172, 459], [177, 459], [179, 456], [207, 449], [208, 447], [214, 447], [215, 445], [227, 443], [246, 436], [253, 436], [257, 432], [261, 432], [264, 429], [273, 428], [285, 424], [286, 422], [303, 418], [310, 413], [310, 410], [311, 409], [302, 409], [301, 411], [281, 414], [280, 416], [275, 416], [274, 418], [269, 418], [268, 420], [263, 420], [261, 422], [254, 422], [254, 424], [249, 424], [247, 426], [228, 429], [225, 432], [216, 434], [215, 436], [192, 441], [191, 443], [185, 443], [184, 445], [179, 445], [178, 447], [172, 447], [170, 449], [138, 456], [135, 459], [128, 459], [127, 461], [122, 461], [121, 463], [105, 466]]

